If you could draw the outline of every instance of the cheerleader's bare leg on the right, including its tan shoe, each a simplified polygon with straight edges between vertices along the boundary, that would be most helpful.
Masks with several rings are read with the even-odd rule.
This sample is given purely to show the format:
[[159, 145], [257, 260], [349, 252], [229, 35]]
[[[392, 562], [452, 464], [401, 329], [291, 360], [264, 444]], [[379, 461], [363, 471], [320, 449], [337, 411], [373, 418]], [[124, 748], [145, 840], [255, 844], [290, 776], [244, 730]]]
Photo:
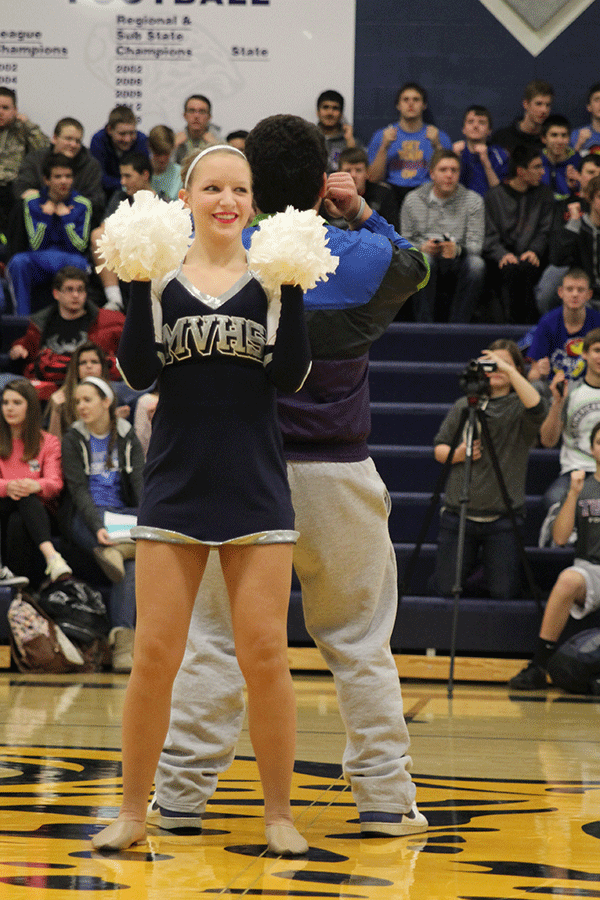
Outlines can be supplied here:
[[236, 654], [248, 688], [250, 739], [265, 799], [271, 850], [305, 853], [290, 804], [296, 749], [296, 699], [287, 658], [292, 545], [221, 548]]

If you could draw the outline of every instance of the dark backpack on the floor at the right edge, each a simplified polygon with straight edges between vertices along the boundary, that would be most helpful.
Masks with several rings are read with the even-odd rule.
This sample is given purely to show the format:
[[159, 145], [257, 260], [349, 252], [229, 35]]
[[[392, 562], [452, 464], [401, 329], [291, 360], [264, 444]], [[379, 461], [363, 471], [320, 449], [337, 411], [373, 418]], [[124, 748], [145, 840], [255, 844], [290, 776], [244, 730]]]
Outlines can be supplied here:
[[552, 683], [572, 694], [600, 694], [600, 628], [579, 631], [548, 660]]

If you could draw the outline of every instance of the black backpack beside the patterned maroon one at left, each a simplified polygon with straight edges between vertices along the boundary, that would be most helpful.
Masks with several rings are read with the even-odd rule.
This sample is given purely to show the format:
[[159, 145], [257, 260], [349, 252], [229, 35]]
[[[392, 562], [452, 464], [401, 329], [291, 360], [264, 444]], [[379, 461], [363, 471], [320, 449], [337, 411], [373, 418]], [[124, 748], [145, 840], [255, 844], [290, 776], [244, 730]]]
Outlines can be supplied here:
[[78, 646], [103, 641], [110, 631], [102, 594], [79, 578], [69, 577], [42, 585], [38, 603]]

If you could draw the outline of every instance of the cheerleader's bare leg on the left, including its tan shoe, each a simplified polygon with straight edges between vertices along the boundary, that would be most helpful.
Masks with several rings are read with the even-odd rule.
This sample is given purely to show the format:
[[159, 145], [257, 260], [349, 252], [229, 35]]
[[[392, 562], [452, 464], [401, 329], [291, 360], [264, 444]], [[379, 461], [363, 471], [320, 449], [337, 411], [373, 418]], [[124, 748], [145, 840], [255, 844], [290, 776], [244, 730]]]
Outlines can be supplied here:
[[123, 709], [123, 803], [118, 818], [92, 839], [96, 849], [124, 850], [145, 837], [171, 689], [209, 552], [198, 545], [137, 542], [135, 647]]

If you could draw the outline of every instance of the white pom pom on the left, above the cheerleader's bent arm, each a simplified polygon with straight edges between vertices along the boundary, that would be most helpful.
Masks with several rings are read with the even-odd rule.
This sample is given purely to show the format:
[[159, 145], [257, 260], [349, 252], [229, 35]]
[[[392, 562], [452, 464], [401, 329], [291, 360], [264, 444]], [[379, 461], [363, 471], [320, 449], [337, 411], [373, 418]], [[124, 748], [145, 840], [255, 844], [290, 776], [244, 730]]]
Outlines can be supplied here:
[[137, 191], [123, 200], [104, 222], [98, 241], [104, 267], [122, 281], [162, 278], [176, 269], [191, 242], [190, 211], [181, 200], [167, 203], [152, 191]]

